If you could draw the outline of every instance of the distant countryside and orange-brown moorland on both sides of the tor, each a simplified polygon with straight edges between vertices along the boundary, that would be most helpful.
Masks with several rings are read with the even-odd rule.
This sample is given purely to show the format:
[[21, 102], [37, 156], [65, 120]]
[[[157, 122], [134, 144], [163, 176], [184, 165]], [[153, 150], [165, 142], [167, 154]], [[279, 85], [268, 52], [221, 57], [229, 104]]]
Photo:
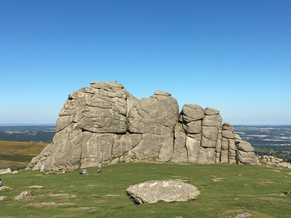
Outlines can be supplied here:
[[[0, 126], [0, 169], [24, 169], [55, 135], [55, 126]], [[291, 126], [234, 126], [234, 133], [255, 148], [291, 163]]]

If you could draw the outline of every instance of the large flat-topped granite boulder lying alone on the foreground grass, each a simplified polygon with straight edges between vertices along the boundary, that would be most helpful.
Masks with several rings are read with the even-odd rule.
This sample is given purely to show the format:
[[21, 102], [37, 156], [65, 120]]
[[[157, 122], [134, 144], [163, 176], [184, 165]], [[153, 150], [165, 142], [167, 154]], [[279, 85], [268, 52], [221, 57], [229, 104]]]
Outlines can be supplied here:
[[198, 197], [199, 190], [181, 180], [155, 180], [142, 182], [130, 186], [125, 190], [127, 196], [134, 204], [155, 203], [159, 200], [191, 201]]

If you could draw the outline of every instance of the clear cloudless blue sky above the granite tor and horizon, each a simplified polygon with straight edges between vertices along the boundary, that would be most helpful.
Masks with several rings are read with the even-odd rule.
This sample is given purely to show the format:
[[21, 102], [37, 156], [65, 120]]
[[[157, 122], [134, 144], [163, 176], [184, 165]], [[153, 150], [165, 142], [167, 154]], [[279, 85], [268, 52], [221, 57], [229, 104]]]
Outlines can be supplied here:
[[234, 125], [291, 125], [290, 11], [290, 0], [0, 0], [0, 123], [56, 123], [68, 94], [117, 80]]

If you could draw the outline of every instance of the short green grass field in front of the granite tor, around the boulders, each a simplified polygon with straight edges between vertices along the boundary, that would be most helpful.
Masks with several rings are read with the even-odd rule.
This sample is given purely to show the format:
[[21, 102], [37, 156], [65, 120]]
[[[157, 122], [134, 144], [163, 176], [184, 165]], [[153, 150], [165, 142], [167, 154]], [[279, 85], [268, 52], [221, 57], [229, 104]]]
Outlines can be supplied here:
[[[289, 169], [257, 165], [198, 165], [130, 162], [88, 168], [90, 175], [78, 170], [45, 175], [39, 171], [0, 175], [3, 186], [0, 196], [14, 197], [32, 190], [28, 200], [1, 201], [1, 217], [231, 217], [242, 212], [252, 218], [290, 217], [291, 195]], [[272, 170], [279, 170], [272, 171]], [[214, 182], [213, 179], [221, 178]], [[201, 194], [189, 202], [159, 202], [134, 205], [125, 189], [149, 180], [184, 179]], [[44, 186], [28, 189], [29, 186]], [[67, 194], [50, 196], [50, 194]], [[42, 203], [73, 203], [73, 206], [47, 206]], [[79, 207], [94, 207], [80, 210]]]

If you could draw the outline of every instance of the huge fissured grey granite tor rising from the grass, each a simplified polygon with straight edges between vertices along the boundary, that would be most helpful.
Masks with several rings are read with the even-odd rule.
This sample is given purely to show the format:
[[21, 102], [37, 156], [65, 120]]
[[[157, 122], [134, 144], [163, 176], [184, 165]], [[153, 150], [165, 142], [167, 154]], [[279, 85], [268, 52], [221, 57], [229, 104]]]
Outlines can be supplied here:
[[255, 164], [251, 145], [222, 124], [219, 111], [178, 103], [155, 91], [138, 100], [116, 82], [92, 82], [69, 94], [53, 142], [27, 169], [72, 171], [118, 161]]

